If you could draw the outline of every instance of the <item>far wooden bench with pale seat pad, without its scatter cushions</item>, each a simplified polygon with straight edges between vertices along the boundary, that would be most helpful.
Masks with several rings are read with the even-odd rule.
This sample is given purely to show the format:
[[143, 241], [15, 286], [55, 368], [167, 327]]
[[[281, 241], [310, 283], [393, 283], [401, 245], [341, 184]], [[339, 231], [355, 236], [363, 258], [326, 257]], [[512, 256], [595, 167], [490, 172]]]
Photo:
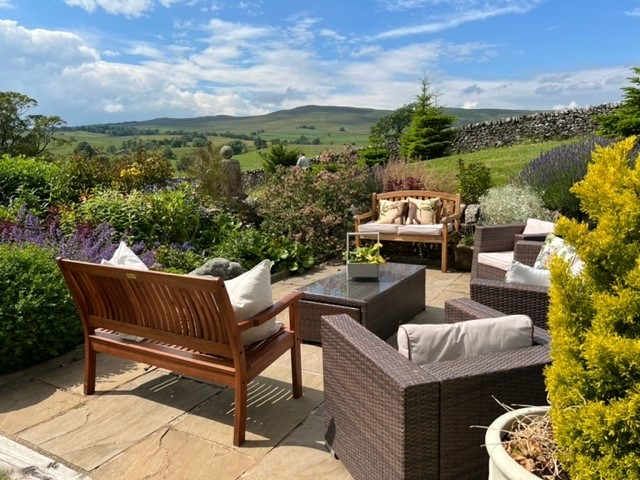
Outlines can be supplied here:
[[[380, 201], [407, 201], [440, 199], [433, 225], [405, 225], [408, 212], [403, 215], [402, 223], [380, 224]], [[458, 243], [460, 238], [460, 194], [429, 192], [426, 190], [399, 190], [396, 192], [374, 193], [371, 195], [371, 210], [355, 216], [356, 232], [378, 232], [381, 241], [433, 243], [442, 246], [441, 268], [447, 271], [448, 246]], [[356, 236], [356, 247], [360, 237]]]

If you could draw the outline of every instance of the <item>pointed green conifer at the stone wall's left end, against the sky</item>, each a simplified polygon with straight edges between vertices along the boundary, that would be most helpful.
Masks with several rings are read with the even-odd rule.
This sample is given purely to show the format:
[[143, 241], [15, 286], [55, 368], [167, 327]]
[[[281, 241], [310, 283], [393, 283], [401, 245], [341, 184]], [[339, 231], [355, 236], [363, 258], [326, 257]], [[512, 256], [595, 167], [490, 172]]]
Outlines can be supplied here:
[[402, 135], [401, 151], [409, 159], [428, 160], [445, 156], [455, 139], [452, 125], [456, 117], [436, 105], [436, 95], [429, 90], [426, 78], [417, 96], [411, 125]]

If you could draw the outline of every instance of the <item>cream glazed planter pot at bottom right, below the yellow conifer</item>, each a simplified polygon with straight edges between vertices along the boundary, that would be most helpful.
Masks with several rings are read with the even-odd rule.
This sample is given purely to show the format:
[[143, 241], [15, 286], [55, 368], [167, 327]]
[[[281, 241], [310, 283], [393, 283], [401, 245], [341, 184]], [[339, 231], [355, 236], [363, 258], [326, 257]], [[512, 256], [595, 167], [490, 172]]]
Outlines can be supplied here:
[[540, 480], [507, 453], [502, 440], [516, 421], [526, 421], [527, 417], [544, 415], [548, 411], [548, 406], [519, 408], [499, 416], [489, 425], [484, 436], [489, 453], [489, 480]]

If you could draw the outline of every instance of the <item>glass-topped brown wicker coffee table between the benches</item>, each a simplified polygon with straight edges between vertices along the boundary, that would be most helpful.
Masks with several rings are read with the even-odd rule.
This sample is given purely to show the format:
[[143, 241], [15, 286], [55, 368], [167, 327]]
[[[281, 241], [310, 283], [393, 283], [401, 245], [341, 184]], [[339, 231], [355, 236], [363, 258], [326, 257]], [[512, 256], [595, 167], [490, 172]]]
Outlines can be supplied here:
[[425, 308], [425, 267], [404, 263], [380, 265], [379, 280], [347, 280], [343, 270], [301, 288], [300, 335], [320, 343], [320, 317], [346, 313], [387, 339]]

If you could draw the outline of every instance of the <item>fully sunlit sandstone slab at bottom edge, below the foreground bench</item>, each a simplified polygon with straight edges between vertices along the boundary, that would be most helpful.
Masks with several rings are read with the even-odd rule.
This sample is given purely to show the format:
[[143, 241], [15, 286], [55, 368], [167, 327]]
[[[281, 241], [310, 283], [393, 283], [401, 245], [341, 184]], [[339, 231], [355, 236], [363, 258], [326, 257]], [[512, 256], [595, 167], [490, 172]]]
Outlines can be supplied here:
[[255, 463], [242, 451], [162, 427], [90, 473], [93, 480], [235, 480]]

